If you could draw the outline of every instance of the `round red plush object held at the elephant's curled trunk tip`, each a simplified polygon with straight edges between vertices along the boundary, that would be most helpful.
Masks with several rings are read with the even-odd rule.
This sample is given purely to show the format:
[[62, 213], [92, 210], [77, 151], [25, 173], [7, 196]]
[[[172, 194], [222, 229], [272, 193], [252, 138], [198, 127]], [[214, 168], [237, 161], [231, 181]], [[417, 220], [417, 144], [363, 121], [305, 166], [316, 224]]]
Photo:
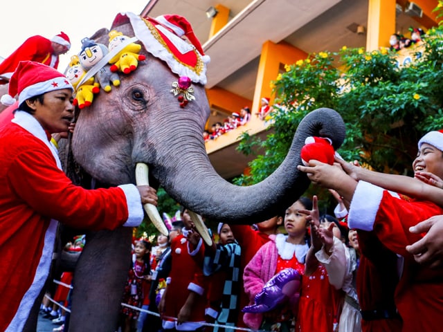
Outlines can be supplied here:
[[334, 164], [335, 151], [329, 138], [309, 136], [300, 151], [303, 165], [307, 166], [309, 160], [315, 159], [329, 165]]

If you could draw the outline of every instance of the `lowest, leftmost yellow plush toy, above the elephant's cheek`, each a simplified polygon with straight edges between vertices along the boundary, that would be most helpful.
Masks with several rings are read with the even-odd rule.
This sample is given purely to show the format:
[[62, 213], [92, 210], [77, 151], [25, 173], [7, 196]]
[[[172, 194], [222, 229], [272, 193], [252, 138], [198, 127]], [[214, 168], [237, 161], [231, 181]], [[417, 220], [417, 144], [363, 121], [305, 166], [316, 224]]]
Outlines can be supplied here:
[[100, 91], [100, 84], [94, 82], [94, 77], [91, 77], [81, 86], [77, 86], [84, 75], [86, 75], [86, 71], [84, 71], [80, 64], [74, 64], [68, 68], [68, 71], [66, 71], [66, 78], [69, 80], [69, 82], [71, 82], [75, 90], [73, 104], [75, 106], [78, 105], [80, 109], [92, 104], [94, 93], [98, 93], [98, 91]]

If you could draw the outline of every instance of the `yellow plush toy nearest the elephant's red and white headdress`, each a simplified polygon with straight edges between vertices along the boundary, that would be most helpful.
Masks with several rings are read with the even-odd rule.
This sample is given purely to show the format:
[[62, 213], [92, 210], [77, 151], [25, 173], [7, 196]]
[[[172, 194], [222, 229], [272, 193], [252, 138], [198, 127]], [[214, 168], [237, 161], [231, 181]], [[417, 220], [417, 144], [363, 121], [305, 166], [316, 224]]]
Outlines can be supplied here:
[[[123, 33], [111, 30], [111, 32], [109, 32], [109, 52], [112, 52], [116, 46], [122, 44], [127, 39], [129, 39], [129, 37], [123, 35]], [[116, 72], [120, 70], [125, 74], [135, 71], [138, 62], [146, 59], [145, 55], [138, 54], [140, 50], [141, 46], [135, 43], [125, 46], [123, 50], [120, 50], [120, 52], [109, 60], [109, 64], [112, 65], [111, 71]]]

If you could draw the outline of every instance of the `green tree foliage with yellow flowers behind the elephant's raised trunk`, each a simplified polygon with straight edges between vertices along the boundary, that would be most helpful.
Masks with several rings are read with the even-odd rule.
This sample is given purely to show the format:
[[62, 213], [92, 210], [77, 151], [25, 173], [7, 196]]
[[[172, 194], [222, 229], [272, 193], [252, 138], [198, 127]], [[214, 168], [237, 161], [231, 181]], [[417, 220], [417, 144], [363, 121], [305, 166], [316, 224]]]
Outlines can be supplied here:
[[[436, 10], [441, 8], [440, 3]], [[246, 133], [238, 147], [246, 154], [261, 147], [264, 154], [250, 163], [251, 175], [234, 182], [251, 185], [269, 176], [286, 156], [302, 118], [319, 107], [335, 109], [345, 121], [346, 139], [338, 150], [345, 160], [409, 174], [419, 138], [443, 128], [442, 36], [442, 25], [428, 30], [415, 59], [405, 66], [390, 50], [345, 46], [338, 53], [320, 52], [286, 65], [273, 82], [269, 135], [257, 140]]]

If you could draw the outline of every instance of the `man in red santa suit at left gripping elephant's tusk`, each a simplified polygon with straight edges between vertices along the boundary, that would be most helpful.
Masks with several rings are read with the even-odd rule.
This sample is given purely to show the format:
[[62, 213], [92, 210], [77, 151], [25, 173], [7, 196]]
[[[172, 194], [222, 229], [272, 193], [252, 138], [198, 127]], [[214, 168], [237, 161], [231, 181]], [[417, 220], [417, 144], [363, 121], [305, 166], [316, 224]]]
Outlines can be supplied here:
[[[57, 223], [89, 230], [135, 227], [156, 191], [132, 184], [107, 190], [73, 185], [51, 134], [73, 120], [73, 88], [60, 72], [19, 62], [9, 85], [18, 94], [12, 122], [0, 129], [0, 331], [23, 331], [48, 277]], [[33, 308], [34, 306], [34, 308]]]

